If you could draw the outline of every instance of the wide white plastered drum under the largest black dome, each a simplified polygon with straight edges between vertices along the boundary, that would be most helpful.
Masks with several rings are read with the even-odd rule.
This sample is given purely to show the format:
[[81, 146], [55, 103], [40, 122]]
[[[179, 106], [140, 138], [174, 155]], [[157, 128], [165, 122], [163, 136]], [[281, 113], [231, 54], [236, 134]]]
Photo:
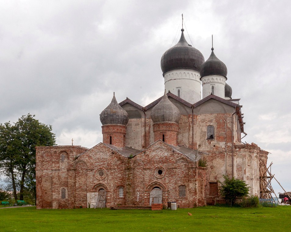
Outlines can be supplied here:
[[191, 69], [176, 69], [164, 73], [165, 89], [189, 103], [201, 100], [201, 81], [200, 73]]

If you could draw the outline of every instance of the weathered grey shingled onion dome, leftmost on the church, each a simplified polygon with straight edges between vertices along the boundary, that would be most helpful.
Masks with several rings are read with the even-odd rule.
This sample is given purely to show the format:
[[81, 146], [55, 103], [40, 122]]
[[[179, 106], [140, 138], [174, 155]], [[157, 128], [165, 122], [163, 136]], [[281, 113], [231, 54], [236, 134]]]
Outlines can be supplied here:
[[101, 112], [100, 121], [105, 124], [121, 124], [126, 126], [128, 123], [128, 113], [117, 103], [115, 95], [111, 103]]

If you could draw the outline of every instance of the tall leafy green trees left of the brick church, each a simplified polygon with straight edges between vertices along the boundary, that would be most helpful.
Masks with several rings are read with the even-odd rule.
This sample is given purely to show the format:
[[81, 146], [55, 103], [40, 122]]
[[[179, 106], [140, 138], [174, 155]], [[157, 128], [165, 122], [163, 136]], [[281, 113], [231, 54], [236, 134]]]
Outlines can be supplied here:
[[11, 125], [0, 124], [0, 168], [12, 180], [14, 198], [17, 200], [16, 177], [20, 186], [20, 200], [24, 187], [35, 195], [35, 147], [55, 145], [52, 126], [40, 123], [35, 115], [23, 115]]

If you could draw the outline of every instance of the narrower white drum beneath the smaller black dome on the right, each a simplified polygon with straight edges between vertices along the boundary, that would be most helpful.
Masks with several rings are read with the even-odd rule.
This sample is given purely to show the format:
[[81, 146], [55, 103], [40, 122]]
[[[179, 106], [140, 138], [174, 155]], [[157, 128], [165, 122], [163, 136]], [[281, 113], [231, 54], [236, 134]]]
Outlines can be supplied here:
[[201, 78], [202, 81], [202, 98], [211, 94], [211, 88], [214, 86], [214, 95], [225, 98], [225, 81], [226, 78], [220, 75], [211, 75]]

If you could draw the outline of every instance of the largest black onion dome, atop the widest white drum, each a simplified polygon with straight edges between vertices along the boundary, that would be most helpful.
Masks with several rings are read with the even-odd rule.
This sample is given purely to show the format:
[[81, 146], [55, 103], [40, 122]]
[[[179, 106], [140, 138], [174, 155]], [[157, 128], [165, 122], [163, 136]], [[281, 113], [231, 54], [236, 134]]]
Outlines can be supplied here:
[[193, 69], [200, 70], [204, 63], [202, 53], [189, 45], [184, 37], [184, 29], [181, 29], [182, 34], [179, 42], [168, 49], [161, 58], [161, 68], [163, 73], [173, 69]]

